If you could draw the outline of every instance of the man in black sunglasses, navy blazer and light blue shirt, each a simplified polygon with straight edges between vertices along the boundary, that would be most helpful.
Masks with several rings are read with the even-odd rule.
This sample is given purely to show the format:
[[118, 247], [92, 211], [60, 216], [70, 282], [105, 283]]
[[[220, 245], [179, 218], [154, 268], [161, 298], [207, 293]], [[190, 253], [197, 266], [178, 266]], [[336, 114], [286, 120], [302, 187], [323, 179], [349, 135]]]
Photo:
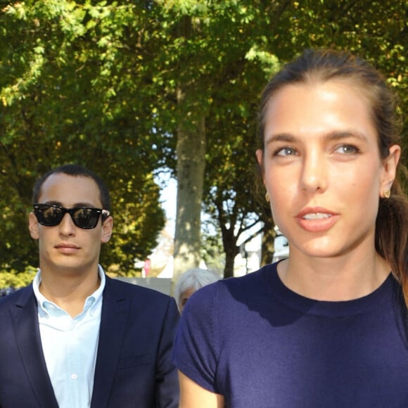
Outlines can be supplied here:
[[177, 407], [177, 306], [98, 264], [113, 230], [103, 181], [78, 165], [51, 170], [29, 229], [39, 272], [0, 302], [0, 407]]

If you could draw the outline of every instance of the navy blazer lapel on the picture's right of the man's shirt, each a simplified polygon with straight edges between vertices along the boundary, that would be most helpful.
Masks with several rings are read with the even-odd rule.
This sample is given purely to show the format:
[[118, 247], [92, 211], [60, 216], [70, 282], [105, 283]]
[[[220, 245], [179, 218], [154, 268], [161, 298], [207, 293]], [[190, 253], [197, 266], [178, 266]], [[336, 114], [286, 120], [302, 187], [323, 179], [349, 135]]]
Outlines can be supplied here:
[[107, 407], [119, 361], [122, 339], [125, 335], [128, 313], [129, 299], [115, 293], [112, 279], [106, 276], [91, 408]]

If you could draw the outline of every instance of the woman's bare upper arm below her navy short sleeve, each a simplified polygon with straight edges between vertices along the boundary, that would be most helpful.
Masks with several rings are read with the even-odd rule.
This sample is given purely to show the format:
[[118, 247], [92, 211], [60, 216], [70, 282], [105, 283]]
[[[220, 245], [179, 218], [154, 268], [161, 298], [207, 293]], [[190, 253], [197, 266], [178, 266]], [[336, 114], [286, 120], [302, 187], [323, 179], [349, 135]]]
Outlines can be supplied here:
[[223, 408], [224, 397], [205, 390], [179, 371], [179, 408]]

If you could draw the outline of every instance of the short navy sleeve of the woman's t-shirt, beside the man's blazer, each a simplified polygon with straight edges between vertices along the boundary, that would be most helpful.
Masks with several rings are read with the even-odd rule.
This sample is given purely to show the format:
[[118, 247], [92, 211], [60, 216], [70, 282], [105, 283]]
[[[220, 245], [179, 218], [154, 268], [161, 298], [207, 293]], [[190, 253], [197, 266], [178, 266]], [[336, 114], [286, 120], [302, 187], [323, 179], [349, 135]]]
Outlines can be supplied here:
[[217, 336], [215, 298], [217, 283], [194, 293], [184, 307], [174, 341], [173, 360], [177, 369], [195, 383], [217, 393]]

